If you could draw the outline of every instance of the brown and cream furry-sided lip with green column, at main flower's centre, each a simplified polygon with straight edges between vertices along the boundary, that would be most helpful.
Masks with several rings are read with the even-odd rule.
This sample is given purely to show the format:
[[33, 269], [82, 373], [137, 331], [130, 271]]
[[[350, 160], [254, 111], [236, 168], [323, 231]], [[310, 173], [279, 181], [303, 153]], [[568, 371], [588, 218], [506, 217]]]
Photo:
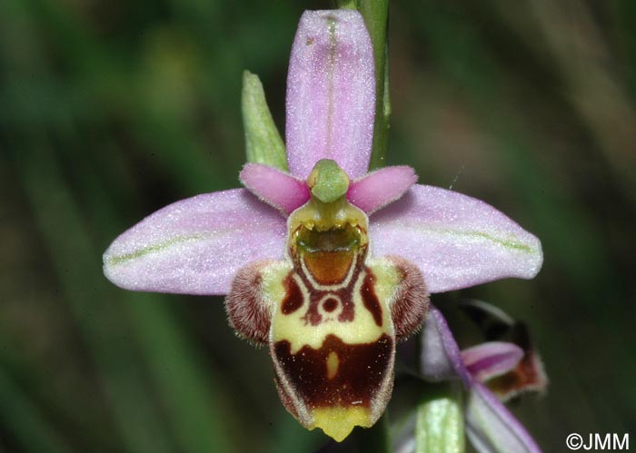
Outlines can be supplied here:
[[366, 214], [336, 162], [316, 163], [312, 197], [287, 222], [287, 260], [239, 271], [226, 299], [242, 337], [267, 343], [283, 404], [341, 441], [371, 427], [393, 389], [395, 343], [422, 323], [428, 292], [398, 257], [369, 257]]

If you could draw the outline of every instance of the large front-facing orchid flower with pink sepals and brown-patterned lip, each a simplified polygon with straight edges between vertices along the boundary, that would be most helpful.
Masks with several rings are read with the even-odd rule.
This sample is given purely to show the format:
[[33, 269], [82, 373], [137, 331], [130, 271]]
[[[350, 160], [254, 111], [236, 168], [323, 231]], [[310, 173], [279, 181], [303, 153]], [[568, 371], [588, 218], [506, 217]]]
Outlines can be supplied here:
[[166, 206], [104, 253], [122, 288], [227, 294], [238, 335], [268, 345], [286, 409], [338, 441], [382, 415], [395, 343], [419, 329], [430, 292], [529, 279], [542, 265], [537, 238], [492, 206], [416, 184], [407, 166], [367, 173], [374, 104], [362, 16], [304, 13], [288, 167], [247, 163], [244, 189]]

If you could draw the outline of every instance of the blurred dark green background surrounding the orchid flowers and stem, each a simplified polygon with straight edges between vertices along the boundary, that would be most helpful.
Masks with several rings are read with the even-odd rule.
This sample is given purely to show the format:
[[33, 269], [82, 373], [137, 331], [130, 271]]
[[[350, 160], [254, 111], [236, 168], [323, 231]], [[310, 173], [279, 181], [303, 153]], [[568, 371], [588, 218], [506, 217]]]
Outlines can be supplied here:
[[[242, 71], [283, 129], [295, 27], [325, 6], [0, 1], [0, 451], [328, 444], [284, 411], [221, 298], [127, 292], [101, 271], [145, 215], [238, 186]], [[634, 24], [632, 0], [391, 5], [388, 162], [542, 239], [536, 280], [433, 301], [528, 322], [551, 385], [512, 410], [545, 451], [571, 432], [636, 442]]]

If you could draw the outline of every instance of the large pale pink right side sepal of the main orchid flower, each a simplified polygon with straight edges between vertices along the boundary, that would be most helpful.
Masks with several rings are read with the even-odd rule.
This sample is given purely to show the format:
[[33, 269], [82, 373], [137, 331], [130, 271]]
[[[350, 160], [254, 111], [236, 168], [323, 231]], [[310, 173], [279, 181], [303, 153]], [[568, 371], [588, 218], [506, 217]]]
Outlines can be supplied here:
[[541, 242], [491, 205], [413, 185], [370, 219], [373, 252], [417, 264], [429, 291], [452, 291], [541, 269]]

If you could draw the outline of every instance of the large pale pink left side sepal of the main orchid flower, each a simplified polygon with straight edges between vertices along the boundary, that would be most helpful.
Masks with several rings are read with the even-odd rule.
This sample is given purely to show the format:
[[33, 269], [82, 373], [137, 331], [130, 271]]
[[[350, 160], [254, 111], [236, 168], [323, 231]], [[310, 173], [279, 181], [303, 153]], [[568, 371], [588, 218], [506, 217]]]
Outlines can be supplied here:
[[175, 202], [119, 236], [104, 274], [127, 290], [226, 294], [249, 262], [283, 259], [286, 222], [244, 189]]

